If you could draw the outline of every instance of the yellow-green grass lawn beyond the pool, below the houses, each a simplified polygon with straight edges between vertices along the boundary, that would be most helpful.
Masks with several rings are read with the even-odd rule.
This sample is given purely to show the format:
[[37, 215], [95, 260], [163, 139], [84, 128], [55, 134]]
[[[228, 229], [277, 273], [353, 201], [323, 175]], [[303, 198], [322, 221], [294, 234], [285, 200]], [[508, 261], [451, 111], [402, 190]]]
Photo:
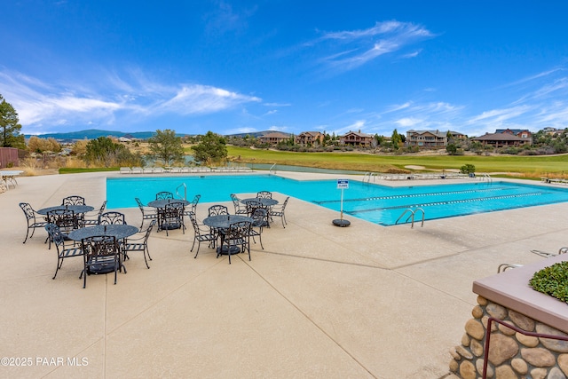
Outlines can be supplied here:
[[[568, 154], [562, 155], [375, 155], [361, 153], [290, 153], [227, 146], [235, 162], [277, 163], [321, 169], [393, 172], [406, 166], [430, 170], [461, 169], [473, 164], [477, 172], [503, 172], [525, 178], [563, 177], [568, 174]], [[565, 174], [564, 174], [565, 171]]]

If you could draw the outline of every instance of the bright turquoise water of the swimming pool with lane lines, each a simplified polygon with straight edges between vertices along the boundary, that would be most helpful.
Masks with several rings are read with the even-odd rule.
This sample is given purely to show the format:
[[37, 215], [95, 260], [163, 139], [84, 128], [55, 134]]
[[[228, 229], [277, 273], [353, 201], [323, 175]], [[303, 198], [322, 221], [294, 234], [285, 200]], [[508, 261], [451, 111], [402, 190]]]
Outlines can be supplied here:
[[[201, 194], [201, 202], [231, 201], [230, 193], [272, 191], [310, 201], [339, 212], [341, 190], [336, 180], [298, 181], [268, 175], [160, 178], [107, 178], [108, 208], [137, 207], [155, 193], [170, 191], [187, 199]], [[426, 220], [465, 216], [495, 210], [531, 207], [568, 201], [568, 190], [548, 186], [493, 181], [437, 186], [379, 186], [351, 181], [343, 192], [343, 216], [359, 217], [380, 225], [395, 225], [406, 209], [421, 208]], [[422, 219], [422, 213], [416, 214]], [[403, 217], [399, 223], [406, 221]]]

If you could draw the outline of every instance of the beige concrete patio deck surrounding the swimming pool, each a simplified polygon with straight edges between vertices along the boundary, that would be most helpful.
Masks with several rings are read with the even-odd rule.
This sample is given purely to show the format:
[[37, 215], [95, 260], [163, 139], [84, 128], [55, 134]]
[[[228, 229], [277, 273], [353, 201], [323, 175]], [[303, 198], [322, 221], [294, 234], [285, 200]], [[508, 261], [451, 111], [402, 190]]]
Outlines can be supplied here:
[[[567, 203], [414, 228], [349, 217], [350, 227], [337, 228], [336, 212], [291, 199], [287, 227], [276, 220], [264, 230], [264, 250], [254, 245], [250, 262], [242, 255], [228, 265], [207, 243], [193, 259], [187, 223], [185, 234], [152, 233], [151, 268], [131, 255], [115, 286], [111, 274], [90, 276], [83, 289], [81, 258], [51, 280], [55, 249], [43, 230], [22, 244], [19, 202], [40, 209], [80, 194], [98, 208], [106, 176], [117, 175], [24, 177], [0, 194], [0, 350], [31, 363], [3, 358], [0, 376], [451, 377], [448, 351], [476, 304], [472, 282], [501, 263], [544, 259], [532, 249], [568, 245]], [[199, 218], [207, 208], [199, 204]], [[119, 210], [140, 224], [138, 209]]]

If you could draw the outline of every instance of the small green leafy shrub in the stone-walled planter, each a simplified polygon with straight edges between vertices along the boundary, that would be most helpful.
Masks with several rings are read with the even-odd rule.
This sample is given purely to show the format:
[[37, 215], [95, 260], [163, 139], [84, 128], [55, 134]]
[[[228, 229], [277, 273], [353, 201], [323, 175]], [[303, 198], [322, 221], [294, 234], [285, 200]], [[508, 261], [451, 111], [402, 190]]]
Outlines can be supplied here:
[[536, 291], [568, 303], [568, 261], [559, 262], [534, 272], [529, 285]]

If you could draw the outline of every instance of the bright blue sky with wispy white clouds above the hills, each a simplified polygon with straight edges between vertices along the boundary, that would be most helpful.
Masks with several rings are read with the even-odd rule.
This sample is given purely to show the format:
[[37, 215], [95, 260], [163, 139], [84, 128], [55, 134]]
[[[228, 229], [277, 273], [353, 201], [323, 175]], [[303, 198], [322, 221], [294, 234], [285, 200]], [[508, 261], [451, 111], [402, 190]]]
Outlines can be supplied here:
[[568, 127], [568, 2], [15, 0], [22, 132]]

